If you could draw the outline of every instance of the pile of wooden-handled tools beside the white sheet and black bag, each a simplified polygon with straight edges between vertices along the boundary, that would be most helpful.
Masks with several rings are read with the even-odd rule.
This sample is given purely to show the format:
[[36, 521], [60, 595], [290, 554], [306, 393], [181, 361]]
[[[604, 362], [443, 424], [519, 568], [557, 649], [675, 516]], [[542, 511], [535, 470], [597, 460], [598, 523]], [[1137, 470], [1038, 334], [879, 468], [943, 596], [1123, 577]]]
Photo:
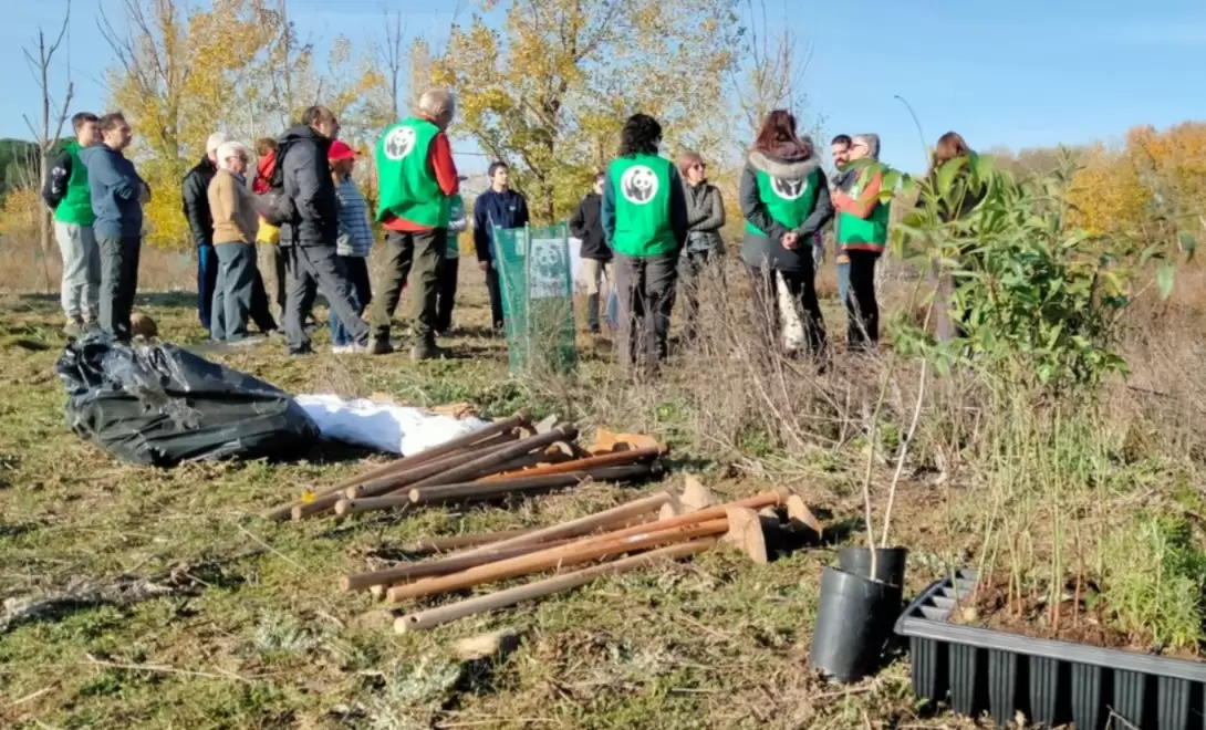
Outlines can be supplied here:
[[[268, 519], [347, 516], [412, 505], [488, 501], [574, 487], [586, 479], [630, 482], [662, 472], [660, 446], [591, 454], [573, 424], [533, 425], [523, 413], [391, 461], [269, 510]], [[626, 446], [626, 445], [620, 445]]]

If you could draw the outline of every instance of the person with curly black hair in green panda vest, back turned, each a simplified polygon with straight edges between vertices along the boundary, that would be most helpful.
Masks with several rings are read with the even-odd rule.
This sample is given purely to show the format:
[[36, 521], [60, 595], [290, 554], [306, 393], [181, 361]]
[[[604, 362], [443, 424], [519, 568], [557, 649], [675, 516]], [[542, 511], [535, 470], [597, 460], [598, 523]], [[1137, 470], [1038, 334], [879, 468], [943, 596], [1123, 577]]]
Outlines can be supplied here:
[[615, 252], [619, 354], [625, 369], [666, 359], [678, 259], [687, 236], [686, 196], [674, 164], [657, 154], [662, 125], [633, 114], [603, 181], [603, 236]]

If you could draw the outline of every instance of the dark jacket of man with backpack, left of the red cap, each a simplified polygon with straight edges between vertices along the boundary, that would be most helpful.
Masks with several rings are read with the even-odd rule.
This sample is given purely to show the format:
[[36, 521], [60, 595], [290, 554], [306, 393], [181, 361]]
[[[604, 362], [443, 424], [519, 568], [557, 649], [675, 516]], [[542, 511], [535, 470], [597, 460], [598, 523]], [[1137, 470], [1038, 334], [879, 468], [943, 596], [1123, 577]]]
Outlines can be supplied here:
[[[339, 199], [327, 153], [330, 140], [299, 124], [281, 135], [276, 152], [280, 195], [276, 220], [281, 246], [334, 246], [339, 237]], [[275, 190], [274, 190], [275, 192]]]

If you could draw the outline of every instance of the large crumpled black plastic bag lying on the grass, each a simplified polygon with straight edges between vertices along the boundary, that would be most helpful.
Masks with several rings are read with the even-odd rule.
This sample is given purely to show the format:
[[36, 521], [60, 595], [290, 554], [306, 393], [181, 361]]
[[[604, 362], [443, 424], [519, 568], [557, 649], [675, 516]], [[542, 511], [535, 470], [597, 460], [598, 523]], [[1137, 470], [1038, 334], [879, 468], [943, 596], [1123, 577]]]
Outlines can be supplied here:
[[68, 425], [123, 461], [175, 466], [305, 455], [318, 426], [287, 393], [174, 345], [92, 334], [55, 366]]

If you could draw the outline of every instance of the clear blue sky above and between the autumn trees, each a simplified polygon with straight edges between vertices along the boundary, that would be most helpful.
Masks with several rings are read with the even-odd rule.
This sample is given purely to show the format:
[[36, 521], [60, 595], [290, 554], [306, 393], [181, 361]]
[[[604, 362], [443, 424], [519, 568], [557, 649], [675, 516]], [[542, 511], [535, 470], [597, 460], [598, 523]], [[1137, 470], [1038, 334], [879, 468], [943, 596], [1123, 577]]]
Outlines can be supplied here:
[[[101, 2], [116, 16], [115, 0]], [[1206, 0], [767, 0], [772, 19], [785, 17], [785, 2], [792, 8], [786, 17], [813, 48], [804, 116], [824, 116], [829, 135], [878, 133], [884, 159], [907, 170], [924, 160], [913, 122], [895, 94], [913, 105], [930, 143], [954, 129], [977, 148], [1108, 142], [1135, 124], [1206, 118]], [[10, 110], [34, 117], [39, 92], [21, 47], [33, 43], [39, 25], [57, 30], [66, 2], [5, 5], [4, 98]], [[403, 11], [411, 35], [443, 39], [452, 5], [289, 0], [303, 37], [320, 48], [340, 33], [357, 45], [380, 37], [387, 7]], [[72, 4], [74, 110], [104, 107], [100, 70], [110, 52], [96, 33], [96, 0]], [[55, 86], [66, 78], [66, 60], [64, 54], [55, 67]], [[0, 118], [0, 137], [7, 136], [29, 136], [19, 113]], [[480, 166], [474, 158], [463, 161], [469, 169]]]

